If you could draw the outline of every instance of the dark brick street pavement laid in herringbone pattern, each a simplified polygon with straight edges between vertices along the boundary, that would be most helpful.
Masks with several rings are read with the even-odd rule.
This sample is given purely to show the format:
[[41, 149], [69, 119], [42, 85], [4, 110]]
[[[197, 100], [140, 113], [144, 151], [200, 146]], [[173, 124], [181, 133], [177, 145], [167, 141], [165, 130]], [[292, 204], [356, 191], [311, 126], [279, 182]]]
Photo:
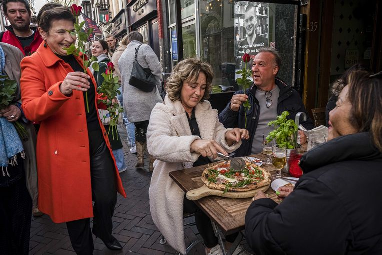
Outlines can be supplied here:
[[[148, 172], [148, 161], [145, 158], [145, 169], [136, 170], [135, 154], [130, 154], [127, 144], [127, 133], [118, 128], [124, 147], [127, 171], [121, 173], [127, 198], [118, 194], [113, 216], [113, 235], [123, 246], [121, 251], [111, 251], [100, 239], [94, 239], [93, 254], [175, 254], [168, 244], [160, 244], [161, 234], [154, 225], [149, 208], [149, 185], [151, 174]], [[194, 219], [186, 219], [193, 221]], [[196, 226], [185, 227], [186, 245], [200, 238]], [[95, 236], [93, 236], [95, 238]], [[242, 242], [245, 247], [245, 241]], [[49, 216], [32, 217], [29, 254], [75, 254], [72, 249], [66, 224], [55, 224]], [[196, 245], [190, 254], [204, 254], [202, 244]]]

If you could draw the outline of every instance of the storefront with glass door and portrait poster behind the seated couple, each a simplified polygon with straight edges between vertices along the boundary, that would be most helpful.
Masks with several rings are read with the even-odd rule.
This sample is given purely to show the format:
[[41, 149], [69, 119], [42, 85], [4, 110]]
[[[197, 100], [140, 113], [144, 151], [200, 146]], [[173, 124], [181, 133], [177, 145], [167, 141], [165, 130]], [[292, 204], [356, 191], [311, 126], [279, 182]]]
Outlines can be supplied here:
[[[260, 47], [276, 48], [282, 58], [278, 76], [298, 87], [299, 1], [282, 3], [233, 0], [166, 0], [168, 45], [172, 69], [179, 59], [197, 57], [209, 62], [215, 78], [214, 91], [233, 86], [236, 71], [243, 68], [241, 56], [256, 55]], [[177, 10], [177, 8], [179, 10]], [[181, 15], [181, 19], [177, 17]], [[181, 20], [181, 35], [177, 33]], [[182, 42], [177, 38], [181, 36]], [[181, 51], [181, 52], [180, 52]], [[251, 63], [250, 63], [251, 64]], [[221, 86], [219, 86], [221, 85]], [[213, 96], [211, 97], [213, 100]]]

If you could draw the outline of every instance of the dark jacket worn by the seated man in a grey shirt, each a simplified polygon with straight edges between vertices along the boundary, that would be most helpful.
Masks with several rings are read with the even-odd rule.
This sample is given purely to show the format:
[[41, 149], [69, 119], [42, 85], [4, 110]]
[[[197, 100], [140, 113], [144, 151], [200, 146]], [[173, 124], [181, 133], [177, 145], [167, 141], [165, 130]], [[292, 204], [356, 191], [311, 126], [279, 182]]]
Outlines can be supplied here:
[[[283, 111], [288, 111], [290, 115], [288, 119], [294, 120], [298, 112], [306, 113], [306, 121], [300, 122], [307, 130], [314, 128], [313, 121], [306, 112], [305, 106], [302, 103], [301, 97], [296, 90], [288, 86], [285, 82], [276, 77], [276, 85], [280, 88], [280, 94], [277, 101], [277, 114], [280, 115]], [[247, 111], [247, 130], [249, 131], [249, 139], [242, 140], [239, 149], [235, 151], [235, 157], [247, 156], [251, 154], [253, 137], [256, 133], [257, 123], [260, 115], [259, 101], [256, 99], [257, 87], [252, 84], [250, 89], [247, 89], [249, 103], [251, 108]], [[235, 94], [243, 94], [244, 91], [237, 91]], [[245, 128], [244, 107], [241, 105], [238, 112], [234, 112], [230, 108], [231, 102], [219, 114], [219, 121], [223, 123], [225, 128]]]

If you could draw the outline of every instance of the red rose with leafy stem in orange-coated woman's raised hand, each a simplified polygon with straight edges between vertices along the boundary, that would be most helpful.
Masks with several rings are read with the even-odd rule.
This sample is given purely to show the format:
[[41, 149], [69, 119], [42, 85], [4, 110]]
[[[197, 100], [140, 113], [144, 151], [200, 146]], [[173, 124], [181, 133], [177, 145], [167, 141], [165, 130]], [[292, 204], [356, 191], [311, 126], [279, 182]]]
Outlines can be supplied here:
[[[89, 60], [86, 56], [85, 52], [85, 45], [88, 42], [88, 38], [90, 34], [93, 32], [93, 28], [88, 29], [86, 32], [83, 32], [82, 27], [85, 25], [85, 21], [79, 23], [78, 17], [81, 14], [82, 6], [77, 6], [76, 4], [73, 4], [70, 7], [70, 11], [72, 12], [73, 16], [76, 18], [76, 22], [74, 23], [74, 29], [75, 32], [70, 32], [71, 35], [76, 36], [77, 38], [77, 46], [74, 44], [71, 44], [68, 48], [63, 48], [66, 50], [66, 54], [73, 54], [75, 56], [80, 56], [82, 58], [82, 62], [84, 63], [84, 73], [86, 74], [87, 68], [90, 66], [90, 63], [93, 62], [92, 67], [95, 71], [98, 71], [98, 63], [97, 58], [92, 56], [92, 58]], [[86, 109], [89, 113], [89, 103], [88, 103], [88, 92], [85, 92], [85, 101], [86, 101]]]

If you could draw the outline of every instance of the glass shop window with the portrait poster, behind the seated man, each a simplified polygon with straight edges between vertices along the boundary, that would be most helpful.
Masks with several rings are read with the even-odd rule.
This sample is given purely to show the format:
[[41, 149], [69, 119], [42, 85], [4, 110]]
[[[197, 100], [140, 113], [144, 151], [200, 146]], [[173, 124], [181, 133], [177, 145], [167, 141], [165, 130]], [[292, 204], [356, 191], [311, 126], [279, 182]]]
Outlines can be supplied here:
[[279, 51], [282, 66], [278, 76], [294, 84], [297, 5], [199, 0], [199, 10], [200, 57], [214, 69], [215, 88], [240, 89], [235, 72], [243, 67], [241, 57], [249, 53], [253, 58], [261, 47]]

